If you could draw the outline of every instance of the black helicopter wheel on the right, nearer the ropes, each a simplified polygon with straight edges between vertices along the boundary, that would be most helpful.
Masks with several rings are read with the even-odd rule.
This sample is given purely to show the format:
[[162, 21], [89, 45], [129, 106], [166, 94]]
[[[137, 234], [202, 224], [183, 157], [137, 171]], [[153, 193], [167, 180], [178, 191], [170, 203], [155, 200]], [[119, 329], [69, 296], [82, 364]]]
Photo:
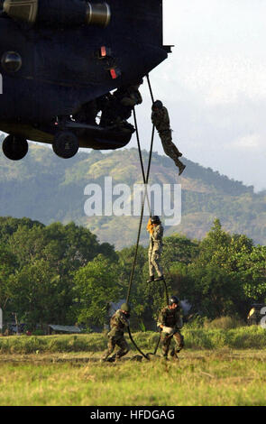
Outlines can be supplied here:
[[52, 150], [60, 158], [69, 159], [78, 152], [78, 137], [70, 131], [55, 134]]

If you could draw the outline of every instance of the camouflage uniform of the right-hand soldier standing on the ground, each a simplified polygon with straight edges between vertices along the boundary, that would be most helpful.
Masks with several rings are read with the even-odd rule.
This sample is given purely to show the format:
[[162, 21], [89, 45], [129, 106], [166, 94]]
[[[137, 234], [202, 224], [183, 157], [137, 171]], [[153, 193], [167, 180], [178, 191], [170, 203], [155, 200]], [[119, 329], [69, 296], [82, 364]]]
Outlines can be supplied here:
[[175, 347], [171, 351], [171, 355], [177, 355], [180, 350], [184, 347], [184, 337], [180, 333], [180, 327], [182, 327], [182, 318], [181, 318], [181, 309], [178, 306], [176, 309], [170, 309], [169, 306], [161, 309], [160, 317], [158, 320], [158, 327], [170, 327], [173, 328], [174, 332], [172, 334], [168, 334], [161, 331], [161, 349], [164, 357], [167, 357], [170, 342], [173, 338], [175, 341]]

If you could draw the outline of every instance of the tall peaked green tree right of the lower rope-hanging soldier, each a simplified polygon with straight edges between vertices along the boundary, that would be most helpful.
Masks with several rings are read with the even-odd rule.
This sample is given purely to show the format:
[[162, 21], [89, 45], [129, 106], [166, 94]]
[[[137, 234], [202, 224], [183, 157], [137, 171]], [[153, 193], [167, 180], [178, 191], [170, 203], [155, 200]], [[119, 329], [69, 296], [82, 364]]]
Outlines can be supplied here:
[[243, 255], [252, 251], [245, 235], [226, 233], [218, 219], [199, 245], [199, 254], [179, 271], [179, 294], [208, 318], [225, 314], [245, 317], [247, 299], [240, 267]]

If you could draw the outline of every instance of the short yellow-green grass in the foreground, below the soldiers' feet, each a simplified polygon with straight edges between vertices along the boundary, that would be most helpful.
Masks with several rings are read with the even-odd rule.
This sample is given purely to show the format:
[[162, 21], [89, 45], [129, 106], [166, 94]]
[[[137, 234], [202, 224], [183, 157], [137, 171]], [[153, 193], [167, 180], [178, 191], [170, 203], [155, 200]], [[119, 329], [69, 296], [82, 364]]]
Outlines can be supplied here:
[[17, 362], [1, 364], [0, 405], [266, 405], [265, 351], [184, 350], [178, 362], [115, 364], [46, 364], [50, 356], [9, 355]]

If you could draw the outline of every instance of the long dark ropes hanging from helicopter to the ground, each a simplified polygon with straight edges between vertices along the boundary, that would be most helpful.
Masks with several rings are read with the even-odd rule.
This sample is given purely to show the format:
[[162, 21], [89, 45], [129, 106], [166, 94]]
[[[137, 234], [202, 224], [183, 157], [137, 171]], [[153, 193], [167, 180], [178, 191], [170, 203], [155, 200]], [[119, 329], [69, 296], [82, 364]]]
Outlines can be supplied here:
[[[148, 86], [150, 89], [150, 94], [151, 94], [151, 101], [152, 104], [154, 103], [154, 97], [152, 94], [152, 89], [151, 89], [151, 81], [149, 78], [149, 75], [146, 75], [147, 81], [148, 81]], [[143, 166], [143, 160], [142, 160], [142, 148], [141, 148], [141, 143], [140, 143], [140, 136], [139, 136], [139, 130], [138, 130], [138, 124], [137, 124], [137, 118], [136, 118], [136, 113], [135, 113], [135, 109], [133, 108], [133, 118], [134, 118], [134, 126], [136, 129], [136, 137], [137, 137], [137, 143], [138, 143], [138, 152], [139, 152], [139, 157], [140, 157], [140, 162], [141, 162], [141, 168], [142, 168], [142, 180], [143, 180], [143, 184], [144, 184], [144, 196], [142, 199], [142, 209], [141, 209], [141, 217], [140, 217], [140, 222], [139, 222], [139, 228], [138, 228], [138, 235], [137, 235], [137, 242], [136, 242], [136, 246], [135, 246], [135, 253], [134, 253], [134, 258], [133, 258], [133, 267], [132, 267], [132, 271], [131, 271], [131, 275], [130, 275], [130, 281], [129, 281], [129, 286], [128, 286], [128, 290], [127, 290], [127, 297], [126, 297], [126, 302], [129, 302], [130, 299], [130, 294], [131, 294], [131, 290], [132, 290], [132, 285], [133, 285], [133, 275], [134, 275], [134, 271], [135, 271], [135, 266], [136, 266], [136, 262], [137, 262], [137, 255], [138, 255], [138, 248], [139, 248], [139, 244], [140, 244], [140, 236], [141, 236], [141, 231], [142, 231], [142, 220], [143, 220], [143, 213], [144, 213], [144, 205], [145, 205], [145, 199], [147, 198], [147, 202], [148, 202], [148, 207], [149, 207], [149, 211], [150, 211], [150, 217], [151, 217], [151, 205], [150, 205], [150, 201], [149, 201], [149, 197], [147, 196], [147, 184], [149, 182], [149, 177], [150, 177], [150, 171], [151, 171], [151, 159], [152, 159], [152, 151], [153, 151], [153, 141], [154, 141], [154, 132], [155, 132], [155, 127], [154, 124], [152, 125], [152, 133], [151, 133], [151, 147], [150, 147], [150, 154], [149, 154], [149, 161], [148, 161], [148, 168], [147, 168], [147, 173], [145, 175], [145, 171], [144, 171], [144, 166]], [[167, 290], [167, 285], [166, 285], [166, 281], [163, 278], [163, 282], [164, 282], [164, 289], [165, 289], [165, 297], [166, 297], [166, 301], [168, 303], [168, 290]], [[133, 336], [130, 330], [130, 327], [128, 327], [128, 335], [133, 343], [133, 346], [135, 346], [135, 348], [138, 350], [138, 352], [148, 361], [150, 360], [149, 355], [156, 355], [157, 349], [159, 347], [160, 344], [160, 340], [161, 340], [161, 334], [159, 336], [159, 340], [155, 346], [154, 352], [151, 353], [149, 352], [148, 354], [144, 354], [142, 352], [142, 350], [136, 345], [136, 343], [133, 340]]]

